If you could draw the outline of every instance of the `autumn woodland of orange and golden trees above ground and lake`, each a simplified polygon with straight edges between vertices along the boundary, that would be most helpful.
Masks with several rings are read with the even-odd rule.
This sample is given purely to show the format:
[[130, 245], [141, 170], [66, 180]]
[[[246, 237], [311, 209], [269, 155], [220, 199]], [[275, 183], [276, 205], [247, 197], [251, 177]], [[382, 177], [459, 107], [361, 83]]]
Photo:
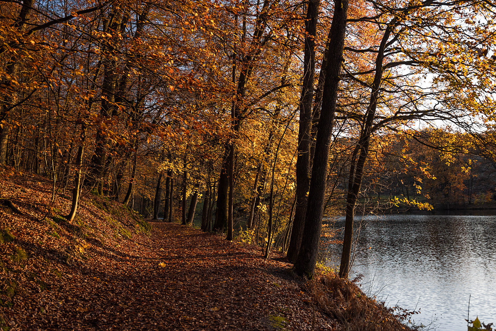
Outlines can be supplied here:
[[494, 8], [0, 0], [3, 176], [48, 178], [69, 221], [100, 195], [290, 261], [309, 194], [351, 221], [494, 207]]

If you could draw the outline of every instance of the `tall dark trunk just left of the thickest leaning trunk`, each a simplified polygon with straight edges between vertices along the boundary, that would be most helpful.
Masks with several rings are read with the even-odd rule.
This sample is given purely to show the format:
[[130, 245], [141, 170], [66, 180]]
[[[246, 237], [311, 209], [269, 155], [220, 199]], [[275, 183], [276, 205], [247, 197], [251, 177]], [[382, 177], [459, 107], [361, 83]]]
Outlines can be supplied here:
[[318, 7], [320, 0], [310, 0], [305, 20], [305, 56], [303, 86], [300, 98], [300, 127], [298, 131], [298, 157], [296, 159], [296, 211], [293, 230], [288, 248], [288, 260], [294, 262], [300, 250], [305, 212], [307, 210], [307, 192], [310, 185], [310, 128], [313, 101], [313, 76], [315, 72], [315, 35]]

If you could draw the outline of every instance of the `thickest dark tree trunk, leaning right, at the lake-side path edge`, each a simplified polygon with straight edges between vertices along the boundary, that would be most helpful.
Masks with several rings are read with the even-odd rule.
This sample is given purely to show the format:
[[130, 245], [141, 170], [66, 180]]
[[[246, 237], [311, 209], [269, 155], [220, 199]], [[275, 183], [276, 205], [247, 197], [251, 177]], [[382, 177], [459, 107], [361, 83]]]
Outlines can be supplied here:
[[[326, 58], [325, 83], [323, 88], [322, 109], [315, 142], [315, 156], [312, 166], [305, 227], [298, 256], [295, 261], [295, 272], [313, 277], [317, 251], [322, 228], [322, 212], [324, 207], [329, 146], [331, 143], [334, 113], [336, 110], [339, 73], [343, 61], [343, 46], [348, 14], [348, 0], [337, 0], [334, 5], [334, 16], [329, 31], [331, 47]], [[296, 219], [295, 219], [296, 220]], [[293, 232], [296, 229], [293, 227]]]

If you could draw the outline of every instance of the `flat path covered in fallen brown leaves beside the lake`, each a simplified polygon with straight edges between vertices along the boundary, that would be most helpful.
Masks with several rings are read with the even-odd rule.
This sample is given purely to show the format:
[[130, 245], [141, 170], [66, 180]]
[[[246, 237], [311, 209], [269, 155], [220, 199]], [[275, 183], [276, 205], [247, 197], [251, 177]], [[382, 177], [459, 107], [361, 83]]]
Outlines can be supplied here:
[[[260, 249], [190, 227], [151, 223], [152, 236], [43, 293], [57, 304], [26, 316], [32, 330], [330, 330]], [[125, 253], [124, 253], [125, 252]], [[48, 292], [48, 293], [47, 293]]]

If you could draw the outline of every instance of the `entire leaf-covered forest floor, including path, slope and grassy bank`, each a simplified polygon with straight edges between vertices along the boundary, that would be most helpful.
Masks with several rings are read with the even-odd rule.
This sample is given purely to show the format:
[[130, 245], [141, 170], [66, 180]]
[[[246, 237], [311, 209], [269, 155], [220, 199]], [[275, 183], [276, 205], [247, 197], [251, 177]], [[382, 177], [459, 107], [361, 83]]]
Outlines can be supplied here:
[[70, 197], [51, 196], [39, 176], [0, 179], [0, 331], [405, 330], [352, 282], [295, 279], [277, 253], [89, 191], [67, 222]]

